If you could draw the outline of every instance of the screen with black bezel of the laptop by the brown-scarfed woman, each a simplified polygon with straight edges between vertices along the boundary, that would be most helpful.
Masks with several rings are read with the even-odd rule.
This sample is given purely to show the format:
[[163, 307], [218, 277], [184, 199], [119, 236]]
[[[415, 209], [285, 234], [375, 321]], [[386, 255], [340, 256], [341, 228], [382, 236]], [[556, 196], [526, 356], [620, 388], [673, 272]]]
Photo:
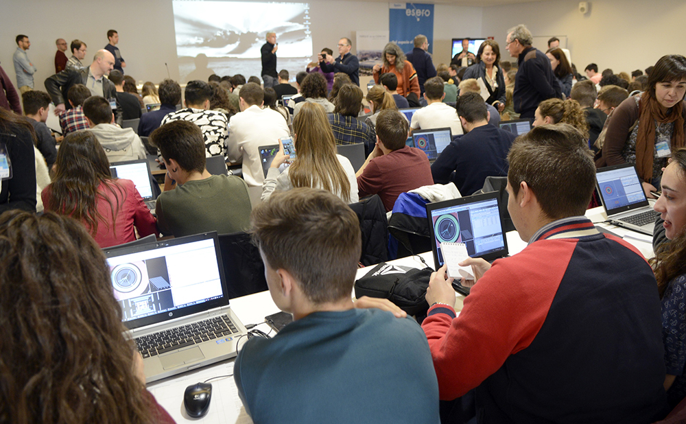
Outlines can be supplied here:
[[595, 180], [608, 215], [648, 206], [636, 168], [630, 163], [600, 168]]

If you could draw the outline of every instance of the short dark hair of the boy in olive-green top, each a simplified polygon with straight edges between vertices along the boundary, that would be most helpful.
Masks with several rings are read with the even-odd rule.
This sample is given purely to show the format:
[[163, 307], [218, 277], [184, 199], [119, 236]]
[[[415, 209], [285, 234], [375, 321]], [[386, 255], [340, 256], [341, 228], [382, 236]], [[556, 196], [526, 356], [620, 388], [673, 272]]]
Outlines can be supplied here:
[[165, 161], [174, 159], [187, 172], [205, 170], [205, 142], [200, 127], [179, 119], [157, 128], [150, 134]]

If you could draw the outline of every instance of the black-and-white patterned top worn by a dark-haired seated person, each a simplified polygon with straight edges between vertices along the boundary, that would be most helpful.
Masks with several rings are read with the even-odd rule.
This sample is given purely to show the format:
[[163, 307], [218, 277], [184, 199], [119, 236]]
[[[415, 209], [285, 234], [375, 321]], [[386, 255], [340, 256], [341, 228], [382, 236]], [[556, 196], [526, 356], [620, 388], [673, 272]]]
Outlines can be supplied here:
[[226, 141], [228, 140], [228, 118], [215, 110], [185, 108], [168, 113], [161, 126], [167, 122], [183, 119], [195, 123], [202, 130], [205, 140], [205, 156], [226, 156]]

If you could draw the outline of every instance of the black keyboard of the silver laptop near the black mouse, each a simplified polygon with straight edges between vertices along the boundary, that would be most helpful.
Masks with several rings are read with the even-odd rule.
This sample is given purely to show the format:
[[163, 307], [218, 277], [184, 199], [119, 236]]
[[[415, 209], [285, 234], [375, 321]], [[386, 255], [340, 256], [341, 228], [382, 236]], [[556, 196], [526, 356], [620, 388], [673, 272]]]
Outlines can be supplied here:
[[134, 341], [143, 357], [151, 357], [235, 333], [238, 333], [236, 326], [233, 325], [228, 316], [222, 315], [158, 333], [143, 335], [135, 338]]

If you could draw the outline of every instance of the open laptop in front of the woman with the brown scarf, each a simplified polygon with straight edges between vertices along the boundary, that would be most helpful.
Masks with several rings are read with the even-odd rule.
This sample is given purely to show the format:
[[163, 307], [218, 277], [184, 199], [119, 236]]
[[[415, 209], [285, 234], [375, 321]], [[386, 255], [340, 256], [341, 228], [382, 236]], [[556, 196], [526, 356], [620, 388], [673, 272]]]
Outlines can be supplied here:
[[595, 187], [600, 193], [608, 222], [652, 235], [660, 213], [648, 204], [634, 165], [623, 163], [598, 169], [595, 172]]

